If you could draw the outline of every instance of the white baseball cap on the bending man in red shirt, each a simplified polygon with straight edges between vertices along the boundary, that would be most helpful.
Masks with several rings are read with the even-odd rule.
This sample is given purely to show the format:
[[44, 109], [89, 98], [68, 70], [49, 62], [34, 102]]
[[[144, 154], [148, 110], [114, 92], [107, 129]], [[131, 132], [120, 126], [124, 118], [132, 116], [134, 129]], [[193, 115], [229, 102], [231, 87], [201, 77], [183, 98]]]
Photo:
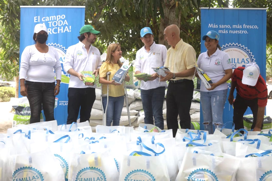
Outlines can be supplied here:
[[245, 85], [255, 86], [259, 75], [259, 66], [254, 62], [248, 63], [243, 71], [242, 83]]

